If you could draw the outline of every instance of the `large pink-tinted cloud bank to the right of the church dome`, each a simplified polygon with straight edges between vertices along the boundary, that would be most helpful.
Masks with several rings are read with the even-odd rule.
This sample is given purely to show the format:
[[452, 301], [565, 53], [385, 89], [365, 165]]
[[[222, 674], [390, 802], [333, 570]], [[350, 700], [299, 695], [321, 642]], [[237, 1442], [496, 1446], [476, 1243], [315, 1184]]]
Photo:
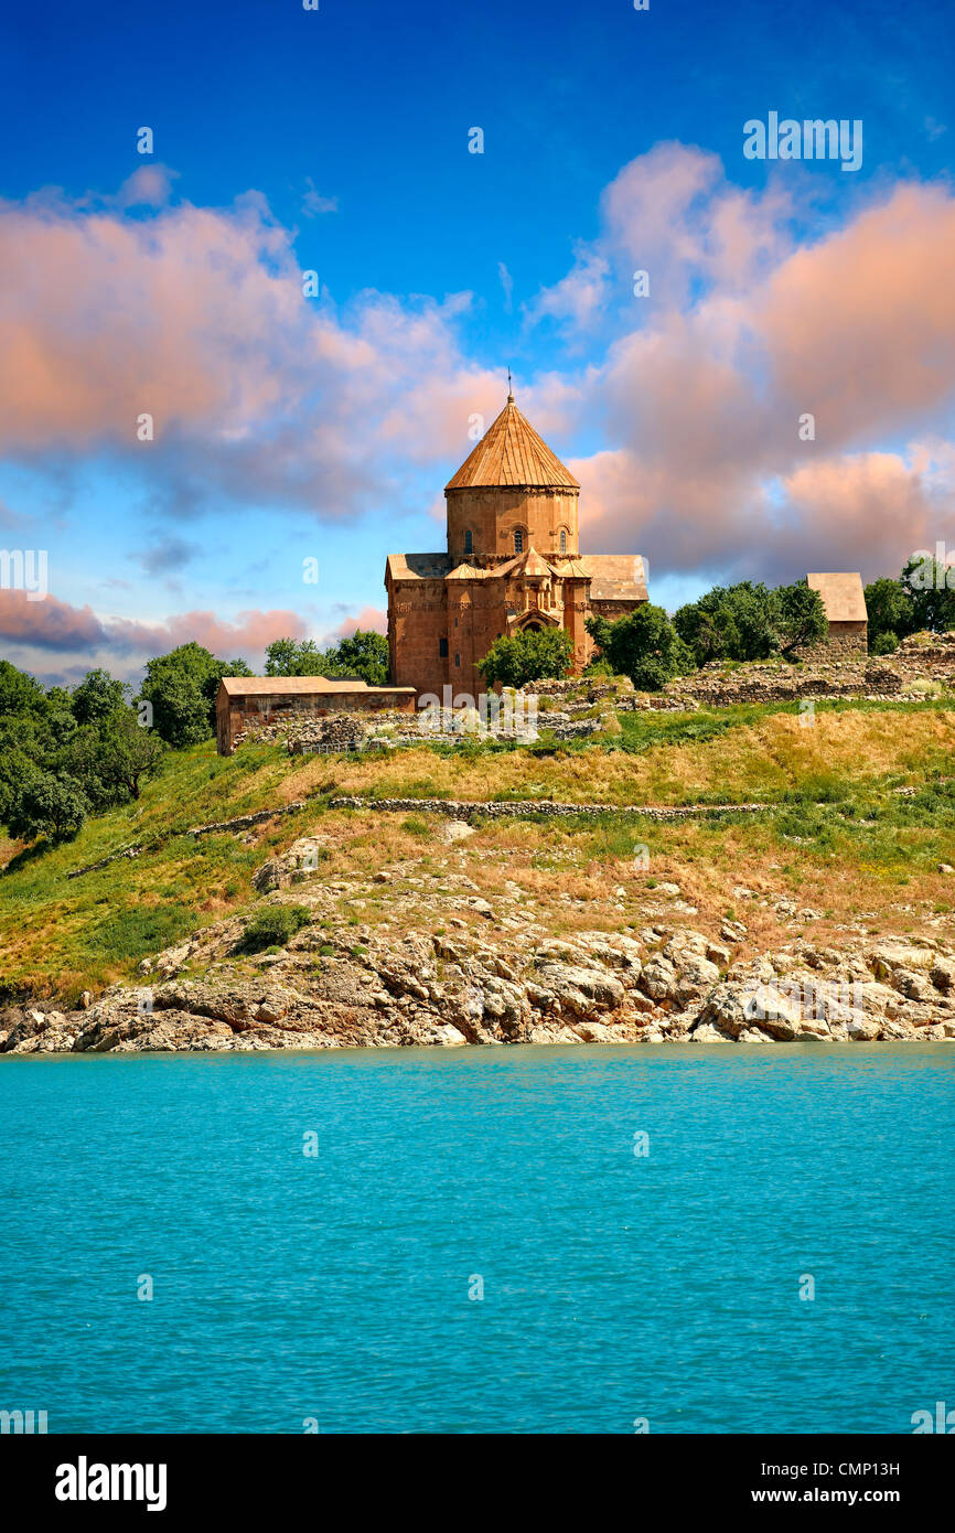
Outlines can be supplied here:
[[[691, 300], [671, 274], [673, 300], [613, 316], [583, 394], [615, 446], [570, 460], [586, 546], [639, 549], [656, 570], [791, 578], [837, 563], [895, 573], [912, 547], [955, 537], [950, 190], [897, 185], [796, 248], [779, 193], [766, 207], [673, 146], [658, 218], [655, 155], [607, 193], [596, 250], [651, 245], [665, 215], [674, 264], [705, 284]], [[805, 412], [816, 440], [800, 440]]]

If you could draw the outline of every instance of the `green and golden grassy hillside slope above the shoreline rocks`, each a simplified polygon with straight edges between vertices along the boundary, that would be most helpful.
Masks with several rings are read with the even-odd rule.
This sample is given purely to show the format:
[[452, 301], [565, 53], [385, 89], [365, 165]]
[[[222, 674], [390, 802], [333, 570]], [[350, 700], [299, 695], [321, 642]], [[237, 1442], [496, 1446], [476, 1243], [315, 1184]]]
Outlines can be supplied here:
[[[422, 747], [385, 759], [290, 759], [248, 747], [221, 759], [210, 740], [173, 753], [138, 803], [90, 820], [77, 842], [0, 845], [2, 995], [71, 1004], [83, 989], [133, 973], [143, 957], [198, 926], [251, 909], [254, 869], [307, 829], [327, 839], [322, 877], [342, 883], [339, 914], [350, 924], [412, 923], [415, 888], [437, 880], [440, 889], [451, 862], [489, 898], [510, 880], [555, 932], [644, 924], [665, 881], [679, 883], [694, 918], [733, 914], [765, 941], [779, 935], [777, 918], [756, 901], [743, 909], [739, 886], [812, 908], [820, 938], [860, 926], [950, 926], [955, 878], [938, 872], [955, 862], [950, 705], [817, 705], [809, 728], [794, 707], [621, 714], [621, 725], [615, 740], [550, 750]], [[774, 812], [679, 825], [618, 816], [486, 822], [449, 848], [425, 817], [330, 811], [339, 793], [619, 806], [760, 800]], [[245, 837], [185, 834], [297, 799], [308, 800], [305, 809]], [[130, 843], [146, 851], [67, 878]], [[648, 871], [635, 871], [638, 845], [648, 848]], [[402, 869], [386, 891], [371, 885], [383, 862]]]

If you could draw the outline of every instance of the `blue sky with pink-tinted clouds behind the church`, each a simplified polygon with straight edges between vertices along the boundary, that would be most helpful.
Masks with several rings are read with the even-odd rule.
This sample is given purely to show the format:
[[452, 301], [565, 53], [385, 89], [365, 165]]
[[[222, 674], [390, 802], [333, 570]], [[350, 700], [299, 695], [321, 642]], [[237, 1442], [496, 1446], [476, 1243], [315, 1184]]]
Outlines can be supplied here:
[[[0, 537], [51, 595], [0, 590], [3, 653], [133, 676], [374, 621], [507, 365], [583, 546], [667, 606], [952, 541], [953, 55], [941, 3], [21, 11]], [[770, 110], [861, 120], [861, 169], [745, 159]]]

